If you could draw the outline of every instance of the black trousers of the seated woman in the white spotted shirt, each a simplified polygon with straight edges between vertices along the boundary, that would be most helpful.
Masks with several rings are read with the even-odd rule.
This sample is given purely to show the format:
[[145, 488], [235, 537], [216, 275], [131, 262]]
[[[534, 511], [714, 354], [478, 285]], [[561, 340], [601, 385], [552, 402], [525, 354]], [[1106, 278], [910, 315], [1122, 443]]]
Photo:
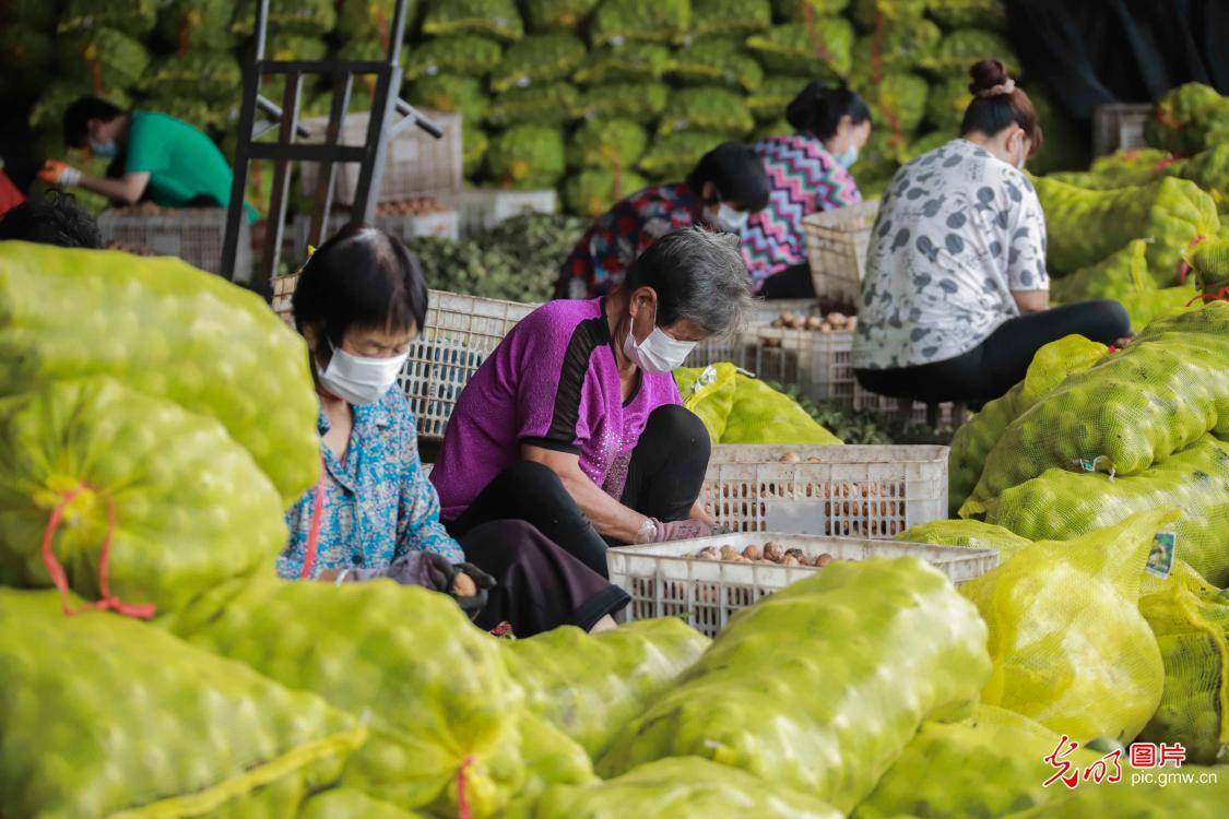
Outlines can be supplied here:
[[1008, 319], [976, 347], [949, 359], [897, 370], [855, 370], [863, 388], [928, 404], [965, 402], [980, 409], [1024, 379], [1037, 350], [1078, 334], [1101, 344], [1131, 335], [1131, 319], [1115, 301], [1063, 305]]

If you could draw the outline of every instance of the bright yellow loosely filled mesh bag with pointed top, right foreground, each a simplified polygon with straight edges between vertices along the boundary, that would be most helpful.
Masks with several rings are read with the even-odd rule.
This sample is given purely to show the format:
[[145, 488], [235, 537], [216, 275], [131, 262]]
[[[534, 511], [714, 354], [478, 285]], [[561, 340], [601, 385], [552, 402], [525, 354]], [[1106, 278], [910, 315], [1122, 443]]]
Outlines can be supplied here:
[[1179, 517], [1155, 510], [1077, 540], [1040, 540], [965, 583], [989, 626], [994, 670], [982, 704], [1085, 742], [1129, 742], [1156, 710], [1165, 672], [1139, 615], [1153, 539]]

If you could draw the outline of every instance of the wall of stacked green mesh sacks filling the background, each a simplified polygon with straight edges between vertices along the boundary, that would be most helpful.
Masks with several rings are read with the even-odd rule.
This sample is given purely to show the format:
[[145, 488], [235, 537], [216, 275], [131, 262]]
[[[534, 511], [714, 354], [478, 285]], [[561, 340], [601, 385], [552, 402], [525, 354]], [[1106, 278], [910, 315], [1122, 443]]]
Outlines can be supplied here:
[[[12, 0], [0, 10], [0, 82], [27, 101], [49, 156], [64, 155], [64, 104], [90, 91], [181, 117], [225, 144], [254, 7]], [[393, 9], [272, 0], [267, 54], [381, 59]], [[954, 134], [968, 65], [998, 56], [1020, 69], [999, 0], [409, 0], [407, 10], [402, 93], [462, 115], [469, 182], [558, 188], [581, 216], [682, 179], [724, 140], [791, 133], [785, 106], [814, 79], [866, 96], [876, 133], [855, 174], [874, 194], [898, 163]], [[1029, 87], [1047, 133], [1034, 167], [1079, 167], [1070, 128]], [[265, 79], [265, 96], [281, 90]], [[369, 108], [370, 85], [353, 97], [351, 111]], [[324, 115], [328, 103], [308, 83], [301, 115]]]

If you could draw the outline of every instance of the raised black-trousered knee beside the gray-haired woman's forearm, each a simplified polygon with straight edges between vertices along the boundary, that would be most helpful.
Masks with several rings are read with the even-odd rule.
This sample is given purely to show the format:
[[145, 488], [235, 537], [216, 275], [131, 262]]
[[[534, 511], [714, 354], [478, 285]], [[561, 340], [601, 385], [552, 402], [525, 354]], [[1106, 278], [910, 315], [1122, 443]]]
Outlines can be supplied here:
[[621, 502], [659, 521], [686, 521], [704, 485], [712, 448], [698, 415], [677, 404], [659, 406], [632, 451]]

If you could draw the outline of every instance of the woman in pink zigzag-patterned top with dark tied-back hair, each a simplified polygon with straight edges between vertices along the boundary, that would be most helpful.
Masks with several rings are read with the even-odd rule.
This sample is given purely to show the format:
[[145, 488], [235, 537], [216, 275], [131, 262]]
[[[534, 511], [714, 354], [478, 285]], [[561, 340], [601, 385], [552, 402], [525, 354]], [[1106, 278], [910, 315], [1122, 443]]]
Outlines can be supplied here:
[[742, 231], [742, 253], [760, 296], [811, 298], [803, 219], [862, 201], [849, 168], [870, 139], [870, 109], [848, 88], [811, 82], [789, 103], [785, 118], [793, 135], [752, 146], [772, 194]]

